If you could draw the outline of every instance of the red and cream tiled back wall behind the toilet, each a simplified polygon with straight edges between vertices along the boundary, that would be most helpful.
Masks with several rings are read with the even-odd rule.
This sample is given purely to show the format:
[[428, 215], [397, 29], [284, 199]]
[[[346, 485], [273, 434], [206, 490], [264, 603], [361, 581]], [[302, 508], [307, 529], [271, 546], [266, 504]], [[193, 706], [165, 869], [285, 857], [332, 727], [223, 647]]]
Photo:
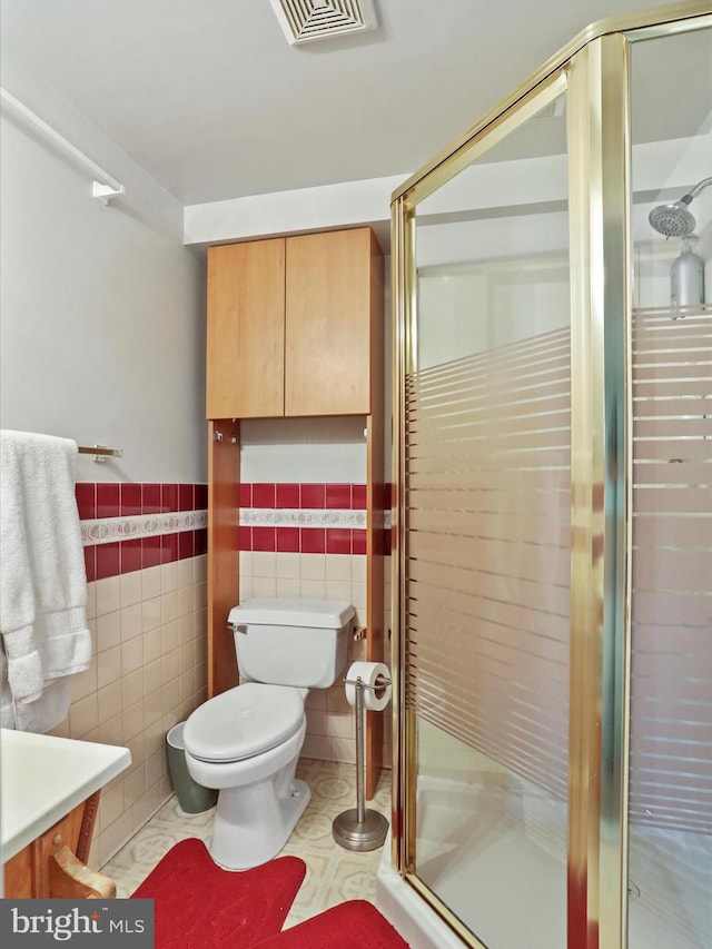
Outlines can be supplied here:
[[[390, 627], [389, 560], [386, 557], [386, 630]], [[346, 600], [356, 609], [357, 629], [363, 629], [366, 623], [366, 485], [243, 484], [240, 600], [253, 596]], [[365, 655], [365, 641], [352, 642], [349, 663]], [[390, 710], [383, 714], [383, 760], [389, 768]], [[355, 762], [354, 710], [346, 702], [342, 682], [309, 693], [307, 737], [301, 753], [324, 761]]]

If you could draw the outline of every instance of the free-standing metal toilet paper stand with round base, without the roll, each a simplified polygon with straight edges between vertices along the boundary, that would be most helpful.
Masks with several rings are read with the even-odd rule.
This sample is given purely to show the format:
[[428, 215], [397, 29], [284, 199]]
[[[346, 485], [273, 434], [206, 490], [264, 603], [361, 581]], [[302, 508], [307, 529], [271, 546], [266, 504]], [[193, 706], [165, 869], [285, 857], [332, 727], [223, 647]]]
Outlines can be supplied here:
[[355, 686], [354, 712], [356, 715], [356, 807], [342, 811], [334, 819], [332, 833], [339, 847], [346, 850], [376, 850], [388, 833], [388, 821], [378, 811], [366, 808], [364, 793], [364, 689], [377, 691], [390, 684], [385, 675], [378, 675], [372, 684], [357, 679], [344, 679]]

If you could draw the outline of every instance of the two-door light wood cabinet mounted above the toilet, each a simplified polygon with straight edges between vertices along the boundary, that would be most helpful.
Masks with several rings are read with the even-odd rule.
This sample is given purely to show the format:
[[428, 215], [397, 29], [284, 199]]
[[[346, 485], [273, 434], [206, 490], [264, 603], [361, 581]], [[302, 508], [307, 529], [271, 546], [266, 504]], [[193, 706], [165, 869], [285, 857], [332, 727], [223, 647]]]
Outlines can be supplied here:
[[208, 418], [369, 415], [378, 291], [367, 227], [209, 248]]

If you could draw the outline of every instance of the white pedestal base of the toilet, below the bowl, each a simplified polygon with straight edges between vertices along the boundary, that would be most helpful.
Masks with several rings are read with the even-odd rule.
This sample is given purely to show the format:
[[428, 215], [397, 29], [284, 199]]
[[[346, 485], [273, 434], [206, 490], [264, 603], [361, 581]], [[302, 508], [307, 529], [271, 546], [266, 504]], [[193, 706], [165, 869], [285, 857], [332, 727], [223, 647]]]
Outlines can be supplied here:
[[278, 775], [278, 787], [268, 779], [219, 792], [208, 847], [216, 863], [226, 870], [248, 870], [279, 853], [312, 799], [309, 785], [293, 777], [295, 769], [296, 760], [290, 774]]

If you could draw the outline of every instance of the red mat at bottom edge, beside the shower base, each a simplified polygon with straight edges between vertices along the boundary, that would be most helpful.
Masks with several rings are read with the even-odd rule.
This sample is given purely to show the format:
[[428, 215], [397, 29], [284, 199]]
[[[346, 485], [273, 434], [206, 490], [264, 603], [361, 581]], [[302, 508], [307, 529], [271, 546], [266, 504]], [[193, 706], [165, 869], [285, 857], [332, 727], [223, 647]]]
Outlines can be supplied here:
[[373, 903], [349, 900], [259, 943], [259, 949], [408, 949]]

